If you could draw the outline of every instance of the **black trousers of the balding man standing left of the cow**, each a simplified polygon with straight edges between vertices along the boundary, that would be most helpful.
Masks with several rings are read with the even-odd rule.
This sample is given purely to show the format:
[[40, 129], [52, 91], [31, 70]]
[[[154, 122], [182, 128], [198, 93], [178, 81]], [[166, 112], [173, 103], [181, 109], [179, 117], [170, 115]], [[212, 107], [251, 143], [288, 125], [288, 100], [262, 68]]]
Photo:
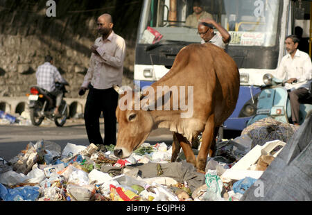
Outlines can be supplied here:
[[[119, 94], [110, 89], [89, 89], [85, 104], [85, 128], [90, 144], [116, 145], [116, 107]], [[99, 118], [104, 117], [104, 141]]]

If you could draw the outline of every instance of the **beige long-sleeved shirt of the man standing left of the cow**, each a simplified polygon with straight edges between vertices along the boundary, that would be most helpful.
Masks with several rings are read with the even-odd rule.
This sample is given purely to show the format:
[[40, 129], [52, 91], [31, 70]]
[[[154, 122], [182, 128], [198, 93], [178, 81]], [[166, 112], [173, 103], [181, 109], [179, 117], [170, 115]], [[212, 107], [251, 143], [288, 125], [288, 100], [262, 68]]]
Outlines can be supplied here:
[[95, 89], [108, 89], [113, 85], [121, 85], [123, 78], [123, 61], [125, 60], [125, 40], [114, 31], [103, 40], [98, 37], [94, 43], [98, 46], [98, 53], [92, 53], [89, 69], [85, 75], [82, 87], [88, 87], [89, 83]]

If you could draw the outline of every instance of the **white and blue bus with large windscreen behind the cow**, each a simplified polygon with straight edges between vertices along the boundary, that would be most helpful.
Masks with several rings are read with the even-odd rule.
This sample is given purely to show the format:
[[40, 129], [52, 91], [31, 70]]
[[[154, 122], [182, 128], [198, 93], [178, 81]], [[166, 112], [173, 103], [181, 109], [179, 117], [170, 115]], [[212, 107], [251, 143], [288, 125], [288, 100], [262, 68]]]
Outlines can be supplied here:
[[[240, 132], [256, 114], [263, 75], [274, 76], [286, 54], [284, 38], [295, 32], [295, 26], [302, 26], [311, 40], [311, 4], [301, 0], [202, 0], [203, 10], [230, 33], [226, 51], [241, 76], [236, 109], [223, 129]], [[182, 47], [200, 43], [198, 29], [185, 26], [192, 13], [192, 0], [144, 1], [135, 48], [135, 87], [143, 89], [162, 78]], [[311, 56], [311, 43], [309, 46]]]

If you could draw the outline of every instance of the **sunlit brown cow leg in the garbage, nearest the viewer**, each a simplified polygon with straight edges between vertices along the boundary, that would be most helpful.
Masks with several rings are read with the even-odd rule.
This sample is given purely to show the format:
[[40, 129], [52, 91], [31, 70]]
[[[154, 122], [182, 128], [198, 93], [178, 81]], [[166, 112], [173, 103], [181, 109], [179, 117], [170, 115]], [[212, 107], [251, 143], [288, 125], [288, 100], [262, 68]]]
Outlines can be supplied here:
[[214, 139], [214, 115], [210, 115], [205, 126], [205, 130], [202, 132], [202, 146], [196, 160], [196, 169], [205, 171], [207, 156], [210, 150], [211, 142]]

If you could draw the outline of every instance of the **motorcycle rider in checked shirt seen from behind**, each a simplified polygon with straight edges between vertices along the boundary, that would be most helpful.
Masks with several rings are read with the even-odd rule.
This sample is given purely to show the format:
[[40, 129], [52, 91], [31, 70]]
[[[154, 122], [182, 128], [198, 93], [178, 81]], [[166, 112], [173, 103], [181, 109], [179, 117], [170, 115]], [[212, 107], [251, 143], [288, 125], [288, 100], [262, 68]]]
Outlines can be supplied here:
[[[40, 65], [36, 71], [37, 86], [45, 89], [50, 94], [55, 96], [55, 110], [53, 114], [55, 117], [60, 117], [60, 112], [58, 111], [63, 98], [62, 90], [55, 87], [55, 82], [63, 83], [68, 85], [67, 81], [60, 75], [58, 69], [53, 66], [53, 58], [51, 55], [46, 55], [44, 58], [44, 64]], [[52, 105], [52, 104], [49, 104]]]

